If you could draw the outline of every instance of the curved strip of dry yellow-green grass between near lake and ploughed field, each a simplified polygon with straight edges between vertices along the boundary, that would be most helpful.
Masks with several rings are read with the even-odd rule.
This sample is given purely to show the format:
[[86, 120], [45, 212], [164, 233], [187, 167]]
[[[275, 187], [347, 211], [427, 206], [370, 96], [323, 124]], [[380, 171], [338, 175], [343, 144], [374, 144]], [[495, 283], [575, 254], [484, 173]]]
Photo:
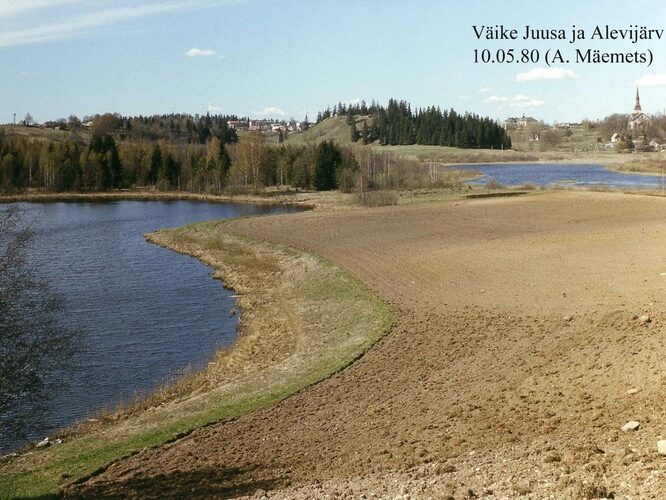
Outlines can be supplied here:
[[1, 462], [0, 497], [56, 495], [118, 459], [271, 405], [349, 365], [391, 323], [388, 307], [339, 268], [236, 236], [225, 222], [147, 237], [212, 266], [237, 292], [237, 343], [203, 372], [62, 433], [62, 444]]

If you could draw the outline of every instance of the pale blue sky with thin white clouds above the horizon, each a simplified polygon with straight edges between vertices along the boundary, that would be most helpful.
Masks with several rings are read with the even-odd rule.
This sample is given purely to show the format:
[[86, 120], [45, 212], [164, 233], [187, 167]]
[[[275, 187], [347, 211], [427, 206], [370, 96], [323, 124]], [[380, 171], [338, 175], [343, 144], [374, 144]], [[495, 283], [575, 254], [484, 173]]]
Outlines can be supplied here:
[[[479, 39], [483, 26], [518, 40]], [[522, 40], [525, 26], [567, 40]], [[573, 26], [585, 40], [569, 43]], [[0, 0], [0, 122], [104, 112], [297, 120], [339, 101], [454, 108], [549, 123], [666, 108], [661, 39], [590, 40], [597, 26], [666, 28], [659, 1]], [[484, 31], [485, 33], [485, 31]], [[538, 61], [475, 62], [474, 51]], [[544, 61], [546, 52], [563, 61]], [[575, 49], [652, 52], [652, 64], [577, 63]], [[508, 52], [504, 52], [505, 54]], [[569, 61], [569, 62], [566, 62]]]

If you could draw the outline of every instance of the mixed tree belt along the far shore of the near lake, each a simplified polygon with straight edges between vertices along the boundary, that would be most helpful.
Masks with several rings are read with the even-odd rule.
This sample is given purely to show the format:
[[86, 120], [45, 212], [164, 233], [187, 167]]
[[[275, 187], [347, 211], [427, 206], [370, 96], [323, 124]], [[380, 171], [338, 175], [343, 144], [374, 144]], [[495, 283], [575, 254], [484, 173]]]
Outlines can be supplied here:
[[354, 162], [351, 151], [333, 142], [269, 145], [248, 133], [205, 144], [165, 139], [120, 139], [117, 134], [40, 141], [0, 131], [0, 191], [40, 189], [100, 192], [152, 187], [195, 193], [258, 191], [268, 186], [328, 190], [339, 170]]

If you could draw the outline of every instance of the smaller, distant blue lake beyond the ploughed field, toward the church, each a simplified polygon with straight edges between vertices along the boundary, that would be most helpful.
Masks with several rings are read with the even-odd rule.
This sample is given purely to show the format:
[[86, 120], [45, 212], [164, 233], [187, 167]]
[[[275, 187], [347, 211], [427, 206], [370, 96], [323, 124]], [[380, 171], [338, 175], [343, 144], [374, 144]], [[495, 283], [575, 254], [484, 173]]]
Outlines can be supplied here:
[[459, 165], [454, 168], [480, 171], [484, 176], [470, 184], [486, 184], [492, 179], [506, 186], [532, 183], [538, 186], [564, 184], [573, 186], [607, 185], [618, 188], [661, 189], [660, 175], [625, 174], [606, 170], [600, 165], [502, 163], [496, 165]]

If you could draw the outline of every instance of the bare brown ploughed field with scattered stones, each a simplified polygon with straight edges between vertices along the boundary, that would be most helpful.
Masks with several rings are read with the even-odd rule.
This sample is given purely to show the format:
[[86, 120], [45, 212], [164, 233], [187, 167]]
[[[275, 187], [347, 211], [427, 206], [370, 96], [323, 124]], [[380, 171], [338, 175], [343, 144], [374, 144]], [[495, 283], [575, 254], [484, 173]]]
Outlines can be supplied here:
[[354, 274], [391, 331], [66, 494], [661, 498], [664, 221], [662, 198], [568, 191], [232, 221]]

